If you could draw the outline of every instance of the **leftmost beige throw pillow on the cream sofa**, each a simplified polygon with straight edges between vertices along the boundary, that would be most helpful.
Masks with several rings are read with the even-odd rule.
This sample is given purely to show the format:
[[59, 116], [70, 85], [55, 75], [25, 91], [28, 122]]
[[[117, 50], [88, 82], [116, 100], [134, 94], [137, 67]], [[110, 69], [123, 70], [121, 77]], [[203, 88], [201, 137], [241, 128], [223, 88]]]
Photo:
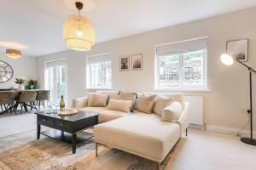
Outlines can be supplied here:
[[108, 94], [88, 94], [88, 107], [106, 107]]

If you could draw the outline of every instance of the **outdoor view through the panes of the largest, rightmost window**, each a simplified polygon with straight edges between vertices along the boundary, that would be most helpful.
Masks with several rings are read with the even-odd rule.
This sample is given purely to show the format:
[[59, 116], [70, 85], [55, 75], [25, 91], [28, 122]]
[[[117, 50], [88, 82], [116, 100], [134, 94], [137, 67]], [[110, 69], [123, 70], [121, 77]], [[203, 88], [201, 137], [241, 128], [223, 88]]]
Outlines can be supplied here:
[[160, 56], [159, 88], [203, 86], [205, 51]]

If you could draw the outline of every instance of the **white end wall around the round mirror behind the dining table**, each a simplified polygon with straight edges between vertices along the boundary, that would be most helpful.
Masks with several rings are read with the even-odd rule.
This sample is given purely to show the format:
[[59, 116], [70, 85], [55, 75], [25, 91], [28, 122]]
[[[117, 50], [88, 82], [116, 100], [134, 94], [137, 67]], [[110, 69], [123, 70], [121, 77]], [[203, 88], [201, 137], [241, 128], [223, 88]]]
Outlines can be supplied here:
[[0, 52], [0, 60], [11, 65], [14, 70], [14, 76], [8, 82], [0, 83], [0, 88], [10, 88], [12, 86], [16, 88], [16, 77], [25, 77], [26, 80], [36, 79], [37, 77], [37, 63], [36, 59], [34, 58], [28, 58], [23, 56], [20, 59], [10, 59], [6, 56], [6, 54]]

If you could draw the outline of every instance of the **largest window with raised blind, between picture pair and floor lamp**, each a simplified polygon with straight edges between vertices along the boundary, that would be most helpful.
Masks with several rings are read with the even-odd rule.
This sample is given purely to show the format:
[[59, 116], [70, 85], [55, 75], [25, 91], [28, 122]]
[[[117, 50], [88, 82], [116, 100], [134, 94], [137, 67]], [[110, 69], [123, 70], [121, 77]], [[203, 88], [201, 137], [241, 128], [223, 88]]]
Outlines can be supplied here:
[[156, 46], [156, 89], [206, 90], [207, 39]]

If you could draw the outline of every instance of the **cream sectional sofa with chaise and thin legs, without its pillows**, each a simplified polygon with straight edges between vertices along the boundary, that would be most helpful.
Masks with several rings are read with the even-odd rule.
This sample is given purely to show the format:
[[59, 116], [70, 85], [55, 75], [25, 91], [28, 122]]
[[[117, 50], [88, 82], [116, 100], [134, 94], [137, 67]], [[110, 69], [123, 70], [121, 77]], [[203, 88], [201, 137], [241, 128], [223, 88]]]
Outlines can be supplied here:
[[[108, 92], [97, 93], [108, 94]], [[109, 93], [109, 95], [112, 94], [113, 92]], [[183, 111], [177, 121], [162, 121], [161, 116], [154, 113], [148, 114], [141, 111], [131, 113], [108, 110], [106, 107], [88, 107], [86, 97], [73, 99], [73, 107], [79, 111], [93, 111], [100, 114], [99, 122], [101, 123], [94, 127], [96, 148], [97, 144], [108, 145], [156, 161], [160, 168], [160, 163], [189, 126], [189, 103], [183, 102], [183, 94], [161, 95], [183, 105]]]

